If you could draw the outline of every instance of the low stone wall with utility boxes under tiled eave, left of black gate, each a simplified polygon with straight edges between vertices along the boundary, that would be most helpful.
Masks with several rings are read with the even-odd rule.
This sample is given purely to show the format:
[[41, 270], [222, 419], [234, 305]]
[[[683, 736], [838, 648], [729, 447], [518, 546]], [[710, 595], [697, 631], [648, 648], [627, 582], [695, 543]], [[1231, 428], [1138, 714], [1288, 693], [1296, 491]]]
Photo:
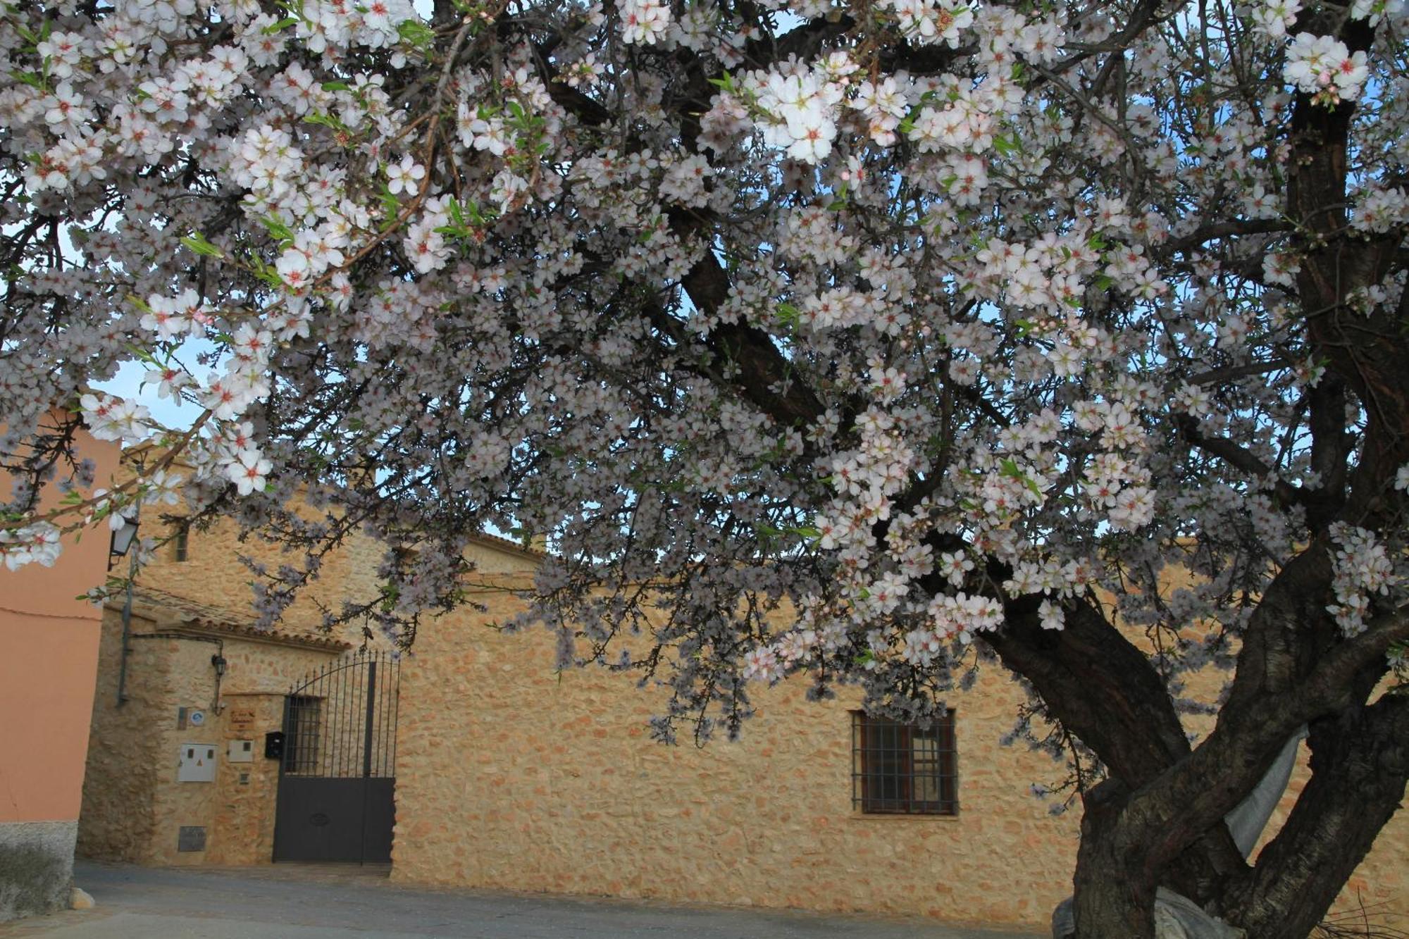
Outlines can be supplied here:
[[[187, 632], [165, 634], [175, 627]], [[110, 609], [104, 616], [79, 825], [83, 856], [144, 864], [245, 864], [272, 856], [279, 763], [265, 759], [263, 736], [280, 728], [289, 688], [340, 650], [192, 629], [156, 613], [134, 618], [127, 701], [118, 705], [121, 615]], [[217, 650], [227, 663], [218, 701]], [[180, 728], [182, 708], [201, 711], [204, 722], [193, 726], [187, 718]], [[251, 743], [249, 763], [230, 761], [231, 740]], [[216, 749], [214, 781], [178, 781], [182, 744]], [[182, 828], [204, 829], [204, 849], [180, 850]]]

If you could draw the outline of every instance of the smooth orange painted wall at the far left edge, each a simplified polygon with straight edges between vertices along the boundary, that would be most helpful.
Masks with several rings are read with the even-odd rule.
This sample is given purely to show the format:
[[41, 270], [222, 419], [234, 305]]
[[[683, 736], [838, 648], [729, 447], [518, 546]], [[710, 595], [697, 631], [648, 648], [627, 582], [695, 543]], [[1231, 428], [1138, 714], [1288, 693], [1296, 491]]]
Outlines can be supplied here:
[[[77, 440], [106, 486], [117, 444]], [[79, 816], [103, 610], [75, 598], [103, 584], [107, 550], [107, 529], [89, 529], [54, 567], [0, 567], [0, 823]]]

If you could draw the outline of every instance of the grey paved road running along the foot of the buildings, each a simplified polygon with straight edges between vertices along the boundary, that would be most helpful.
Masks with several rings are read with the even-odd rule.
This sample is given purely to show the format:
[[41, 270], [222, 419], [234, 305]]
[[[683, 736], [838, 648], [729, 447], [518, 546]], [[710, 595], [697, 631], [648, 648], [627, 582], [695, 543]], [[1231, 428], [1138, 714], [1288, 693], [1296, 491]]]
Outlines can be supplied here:
[[409, 890], [385, 870], [151, 869], [80, 861], [96, 909], [0, 926], [3, 939], [1033, 939], [919, 919]]

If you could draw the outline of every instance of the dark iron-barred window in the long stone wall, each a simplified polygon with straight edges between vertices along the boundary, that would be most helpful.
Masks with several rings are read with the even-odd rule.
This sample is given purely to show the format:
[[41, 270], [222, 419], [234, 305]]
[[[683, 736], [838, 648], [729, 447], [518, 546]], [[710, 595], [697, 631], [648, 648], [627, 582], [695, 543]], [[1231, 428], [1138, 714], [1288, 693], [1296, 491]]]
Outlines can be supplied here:
[[862, 812], [958, 815], [954, 712], [921, 728], [852, 711], [851, 804]]

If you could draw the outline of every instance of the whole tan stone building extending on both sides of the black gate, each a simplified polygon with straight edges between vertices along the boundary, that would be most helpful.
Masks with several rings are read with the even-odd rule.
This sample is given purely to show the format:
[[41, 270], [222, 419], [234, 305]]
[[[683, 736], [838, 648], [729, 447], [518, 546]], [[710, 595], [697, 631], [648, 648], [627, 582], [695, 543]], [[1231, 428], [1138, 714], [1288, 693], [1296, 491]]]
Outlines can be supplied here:
[[[337, 709], [335, 694], [299, 682], [352, 661], [359, 637], [318, 634], [316, 605], [290, 610], [276, 633], [249, 632], [248, 618], [231, 613], [248, 605], [248, 575], [230, 537], [193, 533], [185, 560], [170, 553], [151, 570], [134, 612], [141, 630], [162, 637], [130, 643], [123, 708], [131, 711], [114, 704], [120, 623], [113, 610], [104, 616], [83, 852], [265, 863], [276, 829], [342, 825], [333, 801], [345, 778], [325, 780], [325, 809], [289, 808], [304, 798], [294, 782], [323, 777], [300, 756], [309, 735], [285, 715], [314, 708], [323, 720]], [[1054, 781], [1061, 767], [999, 746], [1022, 699], [1000, 668], [955, 696], [950, 728], [868, 725], [857, 699], [807, 702], [800, 685], [783, 682], [757, 696], [740, 743], [664, 747], [647, 733], [664, 692], [599, 670], [558, 673], [551, 634], [493, 627], [519, 609], [514, 589], [540, 556], [488, 537], [472, 550], [472, 603], [427, 623], [400, 663], [392, 768], [366, 761], [369, 777], [395, 773], [393, 880], [1027, 926], [1045, 923], [1071, 892], [1079, 809], [1051, 815], [1030, 785]], [[316, 589], [333, 602], [371, 587], [375, 567], [373, 548], [352, 544]], [[218, 689], [214, 647], [197, 636], [224, 643]], [[201, 733], [175, 726], [180, 708], [189, 722], [200, 706]], [[351, 712], [352, 729], [325, 726], [316, 749], [351, 733], [344, 746], [356, 766], [366, 753], [358, 740], [380, 737], [369, 723], [359, 729], [361, 705]], [[263, 735], [280, 728], [304, 743], [286, 739], [283, 757], [266, 760]], [[231, 742], [247, 739], [261, 751], [231, 763]], [[176, 749], [201, 742], [214, 749], [214, 780], [178, 782]], [[114, 784], [138, 763], [149, 766], [141, 781]], [[1305, 770], [1293, 778], [1274, 830], [1303, 778]], [[196, 828], [204, 850], [180, 850], [183, 829]], [[186, 832], [186, 847], [194, 837]], [[1341, 907], [1409, 909], [1406, 861], [1409, 823], [1395, 819]], [[1409, 918], [1377, 922], [1403, 928]]]

